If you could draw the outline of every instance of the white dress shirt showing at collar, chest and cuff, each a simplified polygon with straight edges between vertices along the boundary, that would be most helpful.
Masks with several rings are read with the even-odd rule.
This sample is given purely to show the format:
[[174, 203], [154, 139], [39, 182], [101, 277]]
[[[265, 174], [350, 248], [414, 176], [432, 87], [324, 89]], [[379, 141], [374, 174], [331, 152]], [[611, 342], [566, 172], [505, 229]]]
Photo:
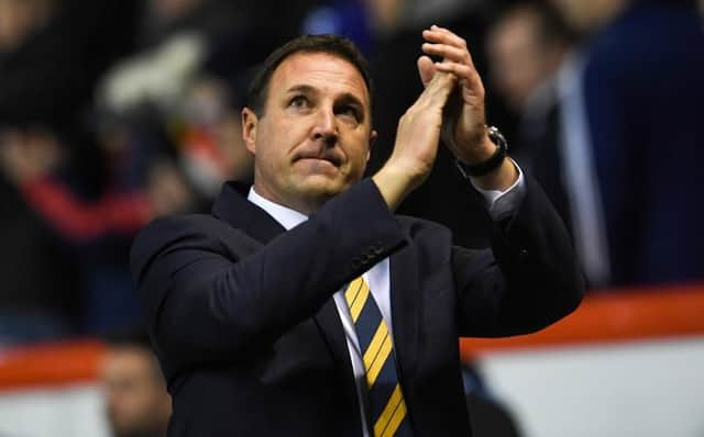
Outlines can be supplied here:
[[[526, 187], [524, 181], [524, 175], [520, 168], [518, 169], [518, 179], [506, 191], [497, 190], [476, 190], [482, 193], [486, 200], [488, 212], [494, 220], [501, 220], [512, 214], [518, 209], [520, 201], [525, 197]], [[248, 200], [255, 205], [266, 211], [274, 220], [276, 220], [286, 231], [301, 224], [308, 216], [301, 214], [298, 211], [294, 211], [289, 208], [274, 203], [267, 199], [264, 199], [254, 191], [254, 187], [250, 189]], [[374, 298], [374, 301], [378, 305], [382, 312], [384, 322], [388, 328], [392, 341], [394, 338], [393, 323], [392, 323], [392, 305], [391, 305], [391, 272], [388, 257], [382, 259], [370, 270], [364, 272], [364, 280], [366, 281], [370, 292]], [[364, 390], [365, 370], [364, 361], [362, 360], [362, 352], [360, 351], [360, 344], [356, 337], [356, 330], [354, 328], [354, 322], [350, 315], [350, 309], [344, 300], [344, 288], [333, 294], [336, 306], [338, 307], [338, 314], [342, 321], [342, 327], [344, 328], [344, 335], [346, 337], [348, 349], [350, 351], [350, 358], [352, 360], [352, 370], [354, 372], [354, 380], [356, 383], [356, 394], [360, 404], [362, 432], [364, 437], [369, 437], [366, 416], [364, 415], [364, 406], [362, 404], [362, 390]]]

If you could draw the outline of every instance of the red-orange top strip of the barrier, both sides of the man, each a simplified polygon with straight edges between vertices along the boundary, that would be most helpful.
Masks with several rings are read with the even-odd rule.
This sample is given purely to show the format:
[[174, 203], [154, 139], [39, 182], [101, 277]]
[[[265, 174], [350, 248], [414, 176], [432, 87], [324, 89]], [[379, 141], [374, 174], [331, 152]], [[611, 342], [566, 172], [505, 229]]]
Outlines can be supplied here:
[[[704, 284], [593, 292], [578, 311], [536, 334], [460, 340], [462, 358], [517, 349], [704, 334]], [[0, 390], [95, 381], [105, 345], [65, 341], [0, 351]]]

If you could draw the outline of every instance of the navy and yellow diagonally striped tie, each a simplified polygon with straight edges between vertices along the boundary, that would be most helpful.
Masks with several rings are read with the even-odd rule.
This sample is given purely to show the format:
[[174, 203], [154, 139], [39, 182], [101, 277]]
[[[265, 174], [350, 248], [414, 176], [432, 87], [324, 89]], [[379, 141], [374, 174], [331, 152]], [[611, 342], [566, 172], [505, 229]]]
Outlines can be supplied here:
[[396, 373], [392, 337], [366, 282], [361, 277], [352, 281], [344, 299], [354, 322], [366, 371], [367, 417], [374, 427], [374, 437], [411, 436]]

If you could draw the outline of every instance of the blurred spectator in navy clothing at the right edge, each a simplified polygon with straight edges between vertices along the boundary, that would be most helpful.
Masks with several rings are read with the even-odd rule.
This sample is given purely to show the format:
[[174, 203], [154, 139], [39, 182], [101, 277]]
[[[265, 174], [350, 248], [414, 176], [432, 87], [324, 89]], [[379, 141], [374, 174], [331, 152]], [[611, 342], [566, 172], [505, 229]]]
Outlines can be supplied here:
[[704, 278], [702, 78], [695, 1], [631, 0], [591, 42], [587, 141], [615, 285]]

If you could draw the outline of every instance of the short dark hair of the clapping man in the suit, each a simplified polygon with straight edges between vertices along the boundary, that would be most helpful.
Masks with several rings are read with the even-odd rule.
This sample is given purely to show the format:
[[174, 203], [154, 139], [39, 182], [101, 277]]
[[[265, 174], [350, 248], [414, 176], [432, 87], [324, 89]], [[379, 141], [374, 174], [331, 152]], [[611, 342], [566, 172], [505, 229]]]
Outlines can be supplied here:
[[344, 36], [322, 34], [298, 36], [272, 52], [250, 83], [246, 96], [248, 108], [256, 112], [260, 116], [264, 115], [264, 107], [266, 105], [266, 98], [268, 96], [268, 85], [274, 71], [286, 58], [297, 53], [327, 53], [339, 56], [352, 64], [360, 75], [362, 75], [362, 79], [364, 79], [364, 83], [370, 93], [371, 107], [372, 79], [364, 55], [362, 55], [352, 41]]

